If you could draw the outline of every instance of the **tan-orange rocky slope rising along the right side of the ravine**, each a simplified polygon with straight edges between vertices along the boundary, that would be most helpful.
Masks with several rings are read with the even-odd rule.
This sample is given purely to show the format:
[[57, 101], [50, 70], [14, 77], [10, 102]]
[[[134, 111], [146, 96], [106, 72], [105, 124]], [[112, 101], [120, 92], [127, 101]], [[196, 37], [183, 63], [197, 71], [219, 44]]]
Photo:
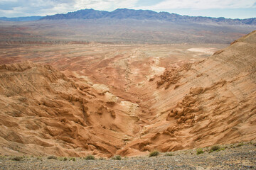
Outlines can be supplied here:
[[255, 139], [255, 49], [256, 31], [206, 60], [166, 70], [149, 82], [156, 89], [134, 89], [149, 106], [151, 125], [119, 154]]

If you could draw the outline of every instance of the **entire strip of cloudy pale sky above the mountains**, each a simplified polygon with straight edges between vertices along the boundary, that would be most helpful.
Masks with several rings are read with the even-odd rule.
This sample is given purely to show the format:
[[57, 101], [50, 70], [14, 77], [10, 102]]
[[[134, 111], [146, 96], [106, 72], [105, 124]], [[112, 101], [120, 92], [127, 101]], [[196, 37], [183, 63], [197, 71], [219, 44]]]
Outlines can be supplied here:
[[256, 0], [0, 0], [0, 17], [46, 16], [93, 8], [167, 11], [188, 16], [255, 18]]

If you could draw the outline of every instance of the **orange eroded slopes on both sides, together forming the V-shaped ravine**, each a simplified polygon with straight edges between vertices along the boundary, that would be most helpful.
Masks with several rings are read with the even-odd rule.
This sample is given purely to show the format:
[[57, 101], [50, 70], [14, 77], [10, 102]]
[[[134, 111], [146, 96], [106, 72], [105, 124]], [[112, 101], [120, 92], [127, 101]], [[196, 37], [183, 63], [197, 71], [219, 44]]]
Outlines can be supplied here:
[[[132, 156], [255, 139], [255, 49], [256, 31], [206, 60], [172, 64], [160, 77], [136, 82], [129, 72], [137, 62], [129, 67], [117, 56], [123, 92], [81, 72], [63, 71], [66, 77], [43, 64], [1, 65], [0, 152]], [[106, 62], [95, 70], [111, 70]], [[150, 66], [147, 72], [164, 71]]]

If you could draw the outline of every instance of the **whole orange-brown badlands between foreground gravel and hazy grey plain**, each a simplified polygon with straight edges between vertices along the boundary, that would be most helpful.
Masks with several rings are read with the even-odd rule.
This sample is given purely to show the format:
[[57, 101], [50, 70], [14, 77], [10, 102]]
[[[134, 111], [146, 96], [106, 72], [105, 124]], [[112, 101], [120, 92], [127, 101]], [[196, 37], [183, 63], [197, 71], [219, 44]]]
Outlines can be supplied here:
[[227, 44], [0, 48], [0, 152], [122, 157], [255, 140], [256, 31]]

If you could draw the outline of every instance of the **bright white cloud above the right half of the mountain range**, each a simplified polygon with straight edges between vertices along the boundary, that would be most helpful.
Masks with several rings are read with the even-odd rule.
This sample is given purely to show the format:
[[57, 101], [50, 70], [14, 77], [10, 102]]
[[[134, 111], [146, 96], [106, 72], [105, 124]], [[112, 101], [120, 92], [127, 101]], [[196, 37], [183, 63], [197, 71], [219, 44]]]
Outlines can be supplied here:
[[154, 6], [139, 6], [142, 9], [171, 9], [171, 8], [191, 8], [191, 9], [209, 9], [209, 8], [252, 8], [255, 0], [166, 0]]

